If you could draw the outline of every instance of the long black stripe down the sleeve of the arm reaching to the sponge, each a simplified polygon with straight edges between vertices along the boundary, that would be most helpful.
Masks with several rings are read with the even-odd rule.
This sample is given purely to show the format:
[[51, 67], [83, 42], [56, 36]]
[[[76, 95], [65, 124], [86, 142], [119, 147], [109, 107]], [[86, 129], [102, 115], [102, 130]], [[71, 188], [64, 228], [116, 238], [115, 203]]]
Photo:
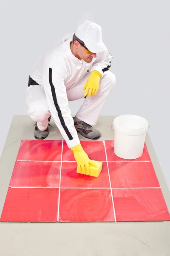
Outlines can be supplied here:
[[51, 86], [51, 93], [52, 93], [52, 96], [53, 96], [54, 105], [56, 107], [56, 110], [57, 110], [58, 117], [59, 117], [59, 120], [61, 122], [61, 125], [62, 125], [63, 129], [65, 130], [69, 140], [73, 140], [73, 137], [72, 137], [71, 133], [68, 131], [68, 128], [65, 125], [64, 119], [62, 117], [61, 110], [60, 110], [58, 102], [57, 102], [57, 97], [56, 97], [56, 93], [55, 93], [55, 87], [54, 87], [53, 81], [52, 81], [52, 68], [51, 67], [49, 68], [49, 83], [50, 83], [50, 86]]

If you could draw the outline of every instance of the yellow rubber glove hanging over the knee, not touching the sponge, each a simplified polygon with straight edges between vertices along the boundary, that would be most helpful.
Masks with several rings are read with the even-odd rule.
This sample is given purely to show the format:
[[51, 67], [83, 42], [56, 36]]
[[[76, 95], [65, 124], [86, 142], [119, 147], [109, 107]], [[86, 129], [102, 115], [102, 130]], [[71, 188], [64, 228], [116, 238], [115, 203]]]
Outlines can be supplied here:
[[86, 81], [85, 86], [83, 87], [83, 90], [86, 89], [84, 93], [84, 97], [88, 94], [88, 97], [90, 98], [90, 96], [97, 93], [99, 89], [99, 82], [101, 77], [102, 75], [98, 71], [96, 70], [91, 71], [91, 74], [88, 80]]

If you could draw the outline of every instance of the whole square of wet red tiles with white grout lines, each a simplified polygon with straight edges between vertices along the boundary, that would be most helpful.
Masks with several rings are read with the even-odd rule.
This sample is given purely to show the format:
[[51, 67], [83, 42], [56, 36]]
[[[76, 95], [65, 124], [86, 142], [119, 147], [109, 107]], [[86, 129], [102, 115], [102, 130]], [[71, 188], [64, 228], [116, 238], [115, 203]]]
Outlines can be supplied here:
[[22, 140], [0, 221], [170, 220], [146, 145], [142, 157], [124, 160], [114, 155], [113, 141], [81, 144], [90, 159], [103, 162], [99, 177], [76, 172], [65, 142]]

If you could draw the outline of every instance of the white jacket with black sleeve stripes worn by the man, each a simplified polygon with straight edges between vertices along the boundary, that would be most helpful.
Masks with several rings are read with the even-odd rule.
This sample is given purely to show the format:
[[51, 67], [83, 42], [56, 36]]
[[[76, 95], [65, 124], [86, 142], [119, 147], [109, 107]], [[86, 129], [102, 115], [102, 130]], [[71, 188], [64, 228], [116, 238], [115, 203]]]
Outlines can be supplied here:
[[87, 71], [97, 70], [104, 76], [112, 58], [108, 51], [104, 51], [97, 53], [91, 63], [79, 60], [70, 49], [73, 35], [65, 35], [63, 41], [47, 52], [30, 73], [30, 77], [44, 87], [51, 116], [68, 148], [78, 145], [80, 141], [68, 108], [66, 90], [74, 86]]

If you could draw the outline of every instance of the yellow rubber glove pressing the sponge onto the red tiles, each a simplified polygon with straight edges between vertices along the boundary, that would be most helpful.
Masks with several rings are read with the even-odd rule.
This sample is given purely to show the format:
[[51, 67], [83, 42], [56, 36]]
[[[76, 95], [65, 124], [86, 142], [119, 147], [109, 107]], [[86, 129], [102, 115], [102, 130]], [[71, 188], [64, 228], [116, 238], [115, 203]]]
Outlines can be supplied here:
[[[89, 163], [92, 163], [91, 160], [88, 158], [88, 155], [85, 153], [85, 151], [82, 148], [82, 145], [76, 145], [74, 147], [71, 148], [71, 150], [74, 153], [74, 158], [77, 162], [77, 166], [79, 169], [79, 172], [81, 172], [82, 174], [91, 174], [91, 170], [90, 170], [90, 166]], [[92, 165], [94, 165], [92, 163]]]

